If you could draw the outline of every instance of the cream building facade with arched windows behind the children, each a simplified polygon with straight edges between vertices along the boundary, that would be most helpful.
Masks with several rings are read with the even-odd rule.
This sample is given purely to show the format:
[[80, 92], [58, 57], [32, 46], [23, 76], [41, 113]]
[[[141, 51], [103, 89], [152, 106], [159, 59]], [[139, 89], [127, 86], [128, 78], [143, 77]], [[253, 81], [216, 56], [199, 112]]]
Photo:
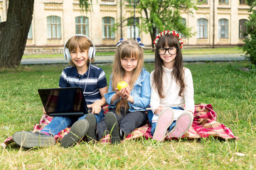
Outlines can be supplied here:
[[[183, 23], [193, 35], [183, 38], [184, 47], [240, 45], [245, 38], [245, 21], [250, 6], [246, 0], [198, 0], [198, 10], [181, 12]], [[114, 46], [119, 38], [134, 38], [134, 8], [125, 0], [93, 0], [89, 11], [82, 11], [78, 0], [36, 0], [25, 54], [59, 53], [71, 35], [89, 36], [96, 48]], [[8, 0], [0, 0], [0, 22], [6, 21]], [[135, 16], [140, 14], [136, 11]], [[113, 33], [114, 24], [128, 18]], [[139, 24], [139, 18], [135, 18]], [[127, 26], [127, 22], [129, 23]], [[151, 46], [149, 34], [135, 27], [135, 36]]]

